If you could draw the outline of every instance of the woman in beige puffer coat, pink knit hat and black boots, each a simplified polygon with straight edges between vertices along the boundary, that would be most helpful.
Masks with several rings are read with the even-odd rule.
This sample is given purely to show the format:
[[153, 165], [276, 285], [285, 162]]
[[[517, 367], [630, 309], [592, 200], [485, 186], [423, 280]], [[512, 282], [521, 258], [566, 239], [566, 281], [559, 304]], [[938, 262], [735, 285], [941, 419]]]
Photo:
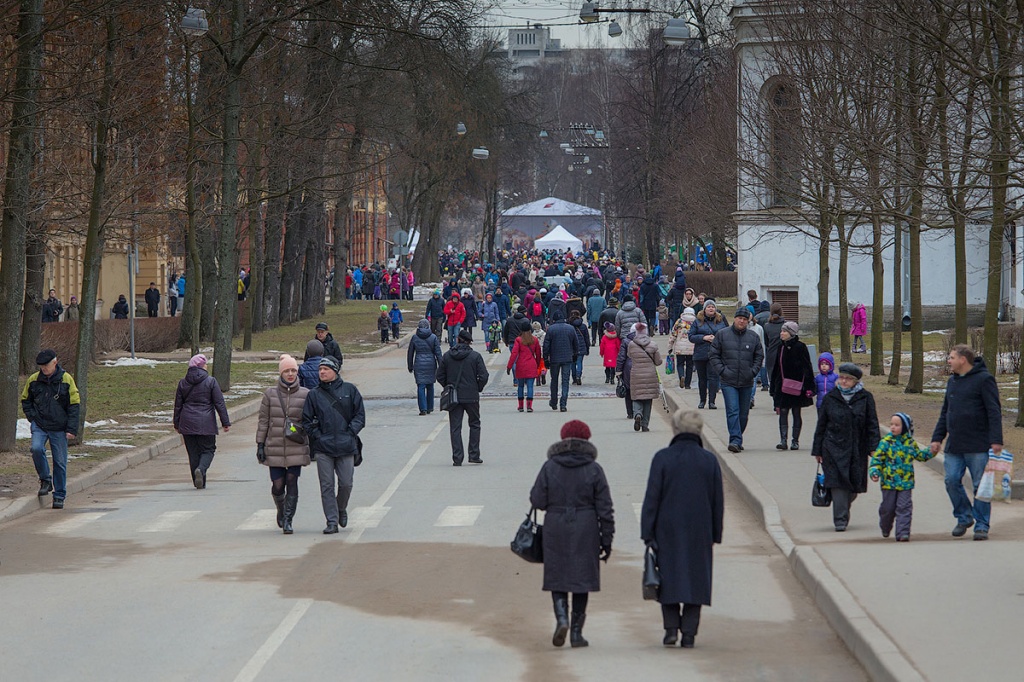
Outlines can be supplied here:
[[278, 507], [278, 527], [292, 535], [299, 503], [299, 475], [309, 464], [309, 441], [301, 429], [308, 388], [299, 385], [299, 364], [291, 355], [278, 363], [278, 383], [263, 392], [256, 427], [256, 459], [270, 468], [270, 496]]

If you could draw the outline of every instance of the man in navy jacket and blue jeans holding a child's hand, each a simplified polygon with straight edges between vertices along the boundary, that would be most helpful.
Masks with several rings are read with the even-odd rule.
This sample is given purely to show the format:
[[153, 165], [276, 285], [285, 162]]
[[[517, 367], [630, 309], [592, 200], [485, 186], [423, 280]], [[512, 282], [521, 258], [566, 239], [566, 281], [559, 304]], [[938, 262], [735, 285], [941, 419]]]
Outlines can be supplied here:
[[1002, 408], [995, 377], [985, 360], [967, 345], [953, 346], [946, 358], [951, 375], [946, 383], [942, 412], [932, 432], [932, 454], [946, 441], [943, 467], [946, 494], [953, 505], [956, 526], [953, 538], [962, 538], [972, 525], [975, 540], [988, 540], [992, 505], [977, 498], [972, 505], [964, 489], [964, 472], [971, 472], [974, 493], [988, 464], [988, 451], [1002, 452]]

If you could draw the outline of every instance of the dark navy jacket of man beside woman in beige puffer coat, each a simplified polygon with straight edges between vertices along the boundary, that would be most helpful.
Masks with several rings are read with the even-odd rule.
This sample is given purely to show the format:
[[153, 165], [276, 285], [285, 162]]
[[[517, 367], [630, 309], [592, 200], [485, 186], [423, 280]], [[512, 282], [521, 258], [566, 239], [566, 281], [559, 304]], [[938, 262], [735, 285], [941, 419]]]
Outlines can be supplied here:
[[[333, 397], [332, 397], [333, 396]], [[334, 407], [340, 403], [341, 411]], [[355, 384], [338, 377], [309, 391], [302, 408], [302, 428], [309, 436], [309, 450], [330, 457], [358, 453], [359, 431], [367, 425], [362, 395]]]

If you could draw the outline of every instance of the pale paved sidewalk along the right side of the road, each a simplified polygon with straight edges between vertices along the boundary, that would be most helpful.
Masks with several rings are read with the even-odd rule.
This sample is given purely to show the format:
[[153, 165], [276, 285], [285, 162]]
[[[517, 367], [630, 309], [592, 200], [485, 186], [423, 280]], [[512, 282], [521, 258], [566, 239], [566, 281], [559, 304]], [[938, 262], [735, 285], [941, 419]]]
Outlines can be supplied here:
[[[695, 409], [696, 376], [688, 391], [677, 388], [674, 376], [667, 379], [670, 407]], [[988, 542], [972, 542], [970, 531], [952, 538], [955, 519], [941, 470], [919, 465], [909, 543], [882, 538], [878, 483], [853, 504], [849, 529], [837, 534], [831, 509], [811, 506], [814, 408], [803, 411], [801, 449], [777, 451], [778, 418], [771, 398], [758, 391], [756, 399], [743, 452], [726, 450], [721, 396], [718, 411], [701, 411], [705, 446], [718, 455], [724, 474], [761, 514], [798, 579], [871, 679], [1016, 677], [1024, 627], [1024, 505], [992, 505]], [[879, 415], [881, 421], [888, 417]]]

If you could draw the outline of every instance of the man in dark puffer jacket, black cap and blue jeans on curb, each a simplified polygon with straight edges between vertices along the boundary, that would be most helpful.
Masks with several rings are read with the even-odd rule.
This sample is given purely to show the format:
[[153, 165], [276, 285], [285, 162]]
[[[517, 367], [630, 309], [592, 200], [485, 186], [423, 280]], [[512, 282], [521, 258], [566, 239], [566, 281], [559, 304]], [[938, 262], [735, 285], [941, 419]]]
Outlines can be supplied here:
[[732, 325], [719, 330], [711, 342], [708, 356], [710, 369], [719, 377], [722, 398], [725, 400], [725, 419], [729, 427], [729, 452], [743, 449], [743, 431], [754, 394], [754, 379], [761, 372], [765, 353], [761, 339], [748, 329], [751, 311], [739, 308], [732, 317]]

